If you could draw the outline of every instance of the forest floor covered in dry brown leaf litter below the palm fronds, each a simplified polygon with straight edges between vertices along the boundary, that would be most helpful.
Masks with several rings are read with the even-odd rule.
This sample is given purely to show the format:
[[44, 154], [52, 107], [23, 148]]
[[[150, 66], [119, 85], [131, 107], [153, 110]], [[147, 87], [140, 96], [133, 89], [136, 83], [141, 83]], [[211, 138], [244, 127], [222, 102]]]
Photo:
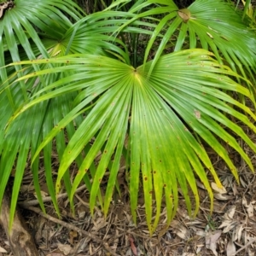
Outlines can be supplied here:
[[[249, 131], [247, 131], [249, 132]], [[247, 133], [248, 134], [248, 133]], [[251, 138], [256, 142], [255, 135]], [[239, 142], [256, 166], [255, 154], [246, 144]], [[172, 224], [166, 227], [166, 212], [160, 218], [158, 229], [149, 236], [144, 215], [143, 192], [138, 200], [137, 226], [130, 212], [129, 192], [125, 173], [120, 171], [121, 198], [114, 195], [108, 217], [96, 208], [90, 215], [89, 194], [84, 187], [75, 195], [75, 217], [72, 216], [67, 195], [58, 199], [61, 222], [51, 202], [45, 202], [44, 215], [38, 207], [32, 186], [32, 174], [27, 170], [20, 189], [20, 212], [26, 219], [40, 255], [124, 255], [124, 256], [254, 256], [256, 255], [256, 176], [239, 154], [227, 148], [235, 163], [240, 184], [236, 183], [224, 161], [209, 148], [208, 154], [218, 172], [224, 189], [215, 188], [214, 210], [210, 215], [207, 190], [198, 180], [201, 198], [200, 212], [195, 219], [189, 218], [182, 195]], [[54, 158], [54, 156], [53, 156]], [[55, 159], [55, 166], [57, 166]], [[208, 174], [209, 180], [213, 182]], [[40, 173], [42, 193], [47, 201], [47, 186], [44, 171]], [[25, 203], [24, 203], [25, 201]], [[43, 214], [42, 214], [43, 213]], [[41, 215], [40, 215], [41, 214]], [[0, 230], [0, 256], [13, 255], [3, 230]]]

